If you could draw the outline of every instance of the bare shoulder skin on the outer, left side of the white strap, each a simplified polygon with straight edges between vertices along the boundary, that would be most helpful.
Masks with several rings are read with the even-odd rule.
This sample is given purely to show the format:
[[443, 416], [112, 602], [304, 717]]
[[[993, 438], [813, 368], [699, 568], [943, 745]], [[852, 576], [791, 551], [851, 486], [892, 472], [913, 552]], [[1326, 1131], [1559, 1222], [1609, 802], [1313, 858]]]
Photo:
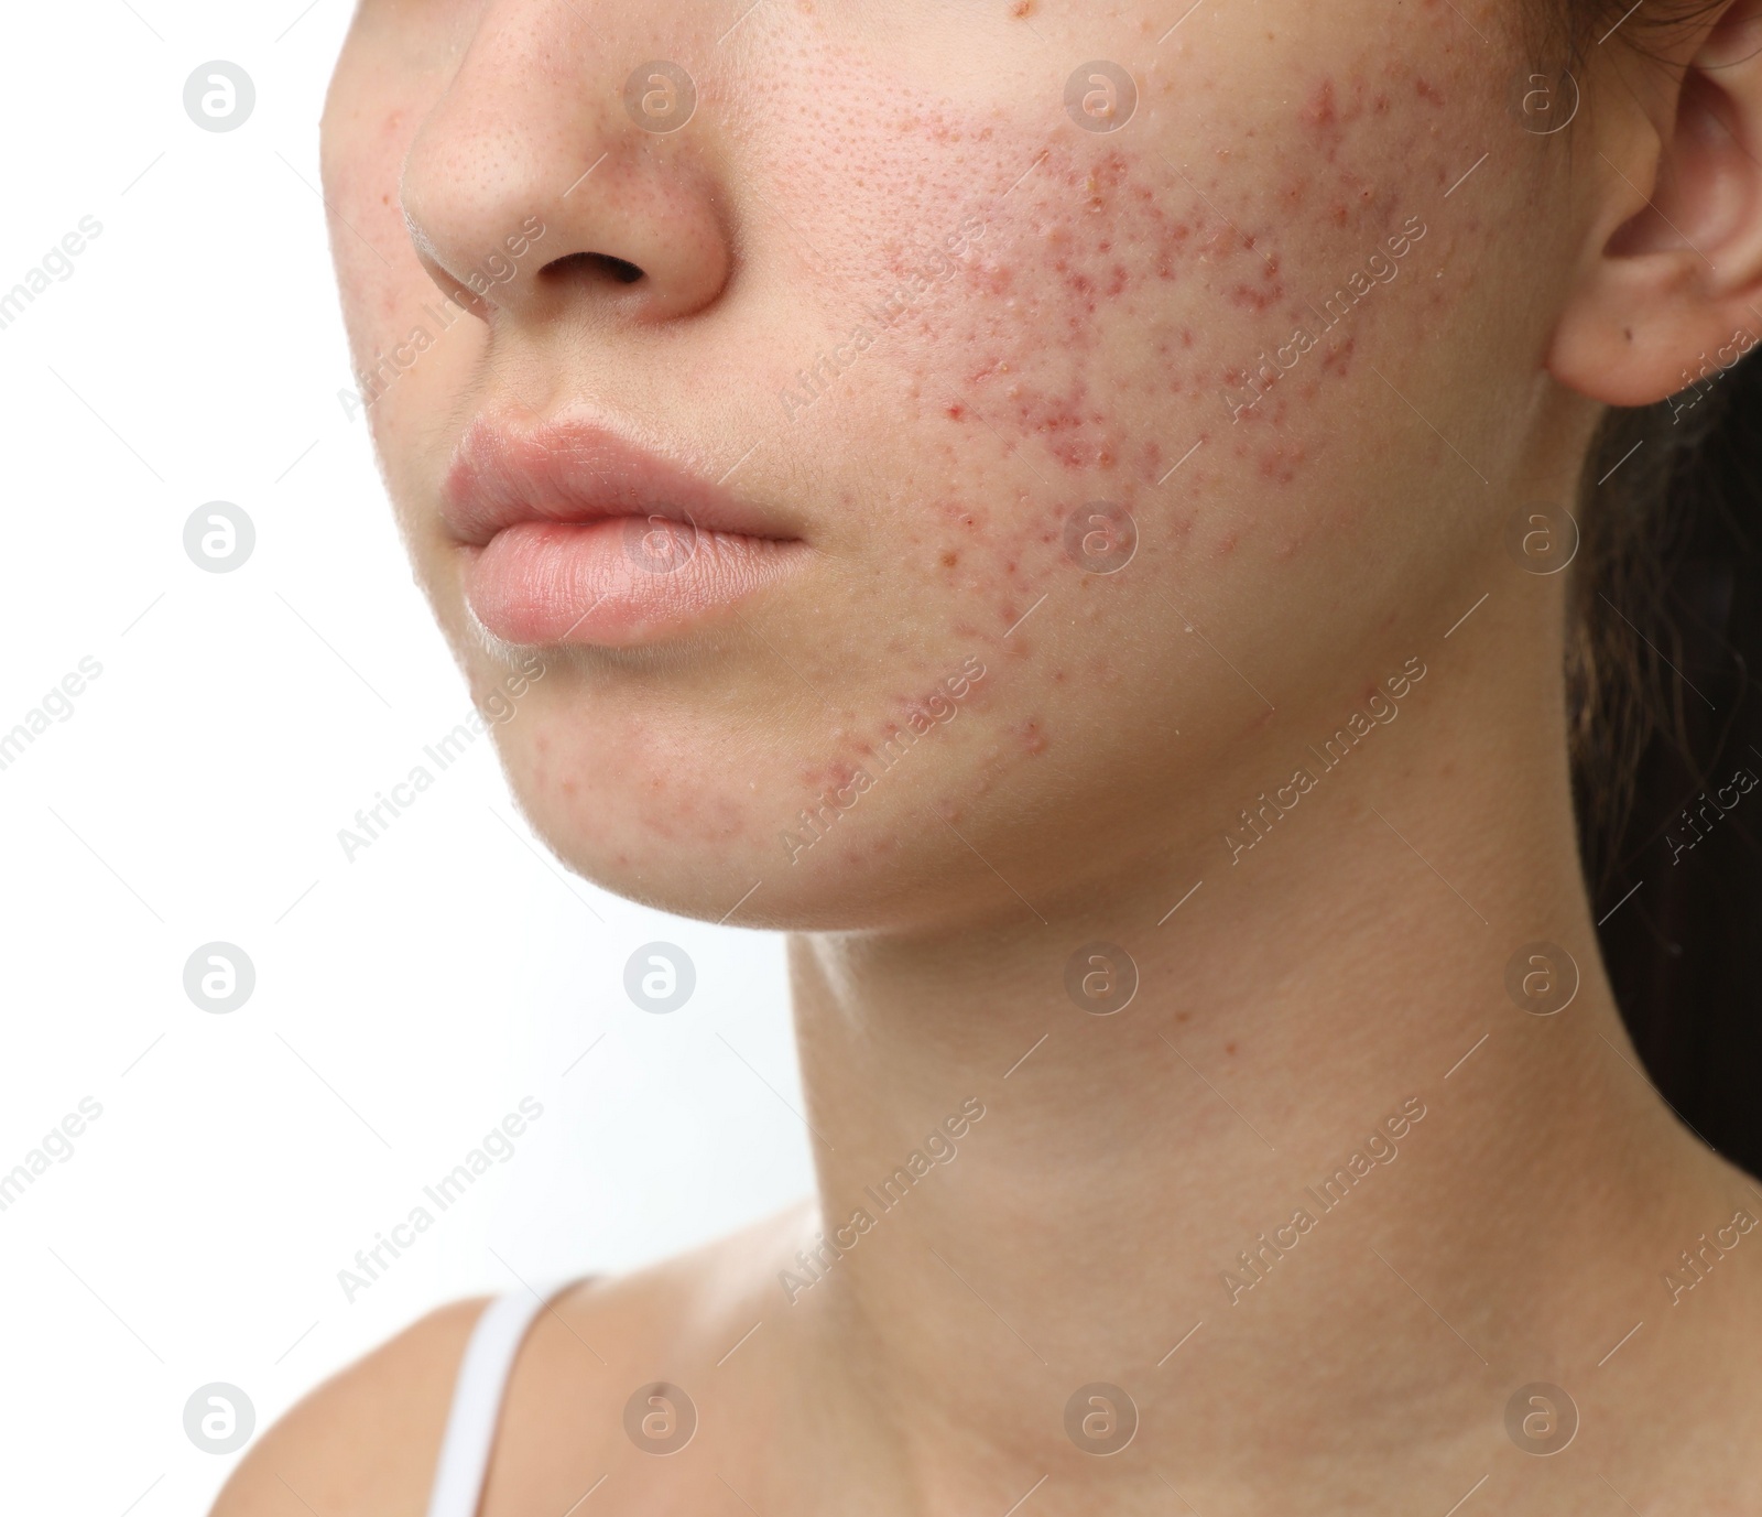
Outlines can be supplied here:
[[257, 1439], [210, 1517], [423, 1517], [485, 1306], [444, 1306], [310, 1392]]

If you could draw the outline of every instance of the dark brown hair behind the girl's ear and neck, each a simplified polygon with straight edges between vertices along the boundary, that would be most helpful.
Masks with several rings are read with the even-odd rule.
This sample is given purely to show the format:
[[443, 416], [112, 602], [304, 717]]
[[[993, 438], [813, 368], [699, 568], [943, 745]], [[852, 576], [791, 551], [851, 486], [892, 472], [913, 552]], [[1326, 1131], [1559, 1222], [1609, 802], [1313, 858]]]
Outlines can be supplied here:
[[[1628, 0], [1542, 0], [1584, 58]], [[1653, 0], [1623, 44], [1721, 4]], [[1647, 14], [1649, 12], [1649, 14]], [[1558, 53], [1554, 56], [1559, 56]], [[1762, 1173], [1762, 315], [1658, 405], [1612, 409], [1579, 486], [1566, 678], [1581, 856], [1651, 1078]]]

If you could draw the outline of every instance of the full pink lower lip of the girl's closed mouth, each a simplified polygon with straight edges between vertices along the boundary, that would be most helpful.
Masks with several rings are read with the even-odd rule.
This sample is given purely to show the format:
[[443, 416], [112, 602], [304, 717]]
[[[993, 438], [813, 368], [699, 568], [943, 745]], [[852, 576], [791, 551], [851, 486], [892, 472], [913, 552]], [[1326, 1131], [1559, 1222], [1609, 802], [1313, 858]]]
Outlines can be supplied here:
[[539, 647], [634, 647], [694, 631], [807, 559], [796, 539], [640, 516], [518, 522], [465, 551], [478, 620], [504, 641]]

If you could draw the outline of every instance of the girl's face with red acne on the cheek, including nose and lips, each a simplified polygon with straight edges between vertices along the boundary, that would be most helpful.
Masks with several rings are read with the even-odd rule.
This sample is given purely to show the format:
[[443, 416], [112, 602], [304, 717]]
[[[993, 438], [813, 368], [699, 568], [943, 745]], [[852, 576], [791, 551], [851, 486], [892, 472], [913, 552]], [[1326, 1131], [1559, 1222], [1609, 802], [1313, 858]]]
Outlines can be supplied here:
[[1570, 483], [1514, 9], [363, 0], [361, 396], [557, 851], [879, 927], [1219, 847]]

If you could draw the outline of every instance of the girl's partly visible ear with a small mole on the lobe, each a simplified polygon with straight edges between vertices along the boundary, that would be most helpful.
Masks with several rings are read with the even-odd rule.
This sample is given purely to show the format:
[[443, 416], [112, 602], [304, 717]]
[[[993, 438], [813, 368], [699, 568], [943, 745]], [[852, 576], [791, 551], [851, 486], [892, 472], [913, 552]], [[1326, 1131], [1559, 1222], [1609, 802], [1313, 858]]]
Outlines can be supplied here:
[[1642, 104], [1610, 99], [1579, 159], [1600, 213], [1547, 368], [1607, 405], [1651, 405], [1762, 342], [1762, 0], [1684, 46], [1663, 95], [1663, 65], [1633, 60], [1653, 70]]

